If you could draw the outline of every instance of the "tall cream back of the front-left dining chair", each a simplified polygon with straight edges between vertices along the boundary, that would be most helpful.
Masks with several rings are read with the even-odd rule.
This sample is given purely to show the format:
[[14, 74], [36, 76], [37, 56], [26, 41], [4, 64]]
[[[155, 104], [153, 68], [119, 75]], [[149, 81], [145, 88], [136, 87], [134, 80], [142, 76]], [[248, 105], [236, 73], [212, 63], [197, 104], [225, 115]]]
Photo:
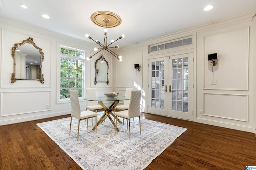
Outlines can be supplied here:
[[81, 116], [81, 108], [78, 100], [78, 91], [70, 90], [70, 103], [71, 103], [71, 116], [80, 119]]

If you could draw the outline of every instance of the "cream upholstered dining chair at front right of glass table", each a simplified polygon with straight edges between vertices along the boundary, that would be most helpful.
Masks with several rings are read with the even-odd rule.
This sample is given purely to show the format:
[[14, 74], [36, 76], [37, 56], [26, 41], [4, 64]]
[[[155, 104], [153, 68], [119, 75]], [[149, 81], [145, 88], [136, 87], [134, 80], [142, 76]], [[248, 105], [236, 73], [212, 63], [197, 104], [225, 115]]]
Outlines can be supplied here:
[[[129, 109], [116, 112], [116, 126], [117, 126], [117, 117], [121, 117], [129, 121], [129, 139], [131, 139], [130, 119], [134, 117], [139, 117], [139, 124], [140, 124], [140, 100], [141, 100], [141, 90], [133, 90], [131, 92]], [[140, 134], [141, 134], [141, 127], [140, 127]]]

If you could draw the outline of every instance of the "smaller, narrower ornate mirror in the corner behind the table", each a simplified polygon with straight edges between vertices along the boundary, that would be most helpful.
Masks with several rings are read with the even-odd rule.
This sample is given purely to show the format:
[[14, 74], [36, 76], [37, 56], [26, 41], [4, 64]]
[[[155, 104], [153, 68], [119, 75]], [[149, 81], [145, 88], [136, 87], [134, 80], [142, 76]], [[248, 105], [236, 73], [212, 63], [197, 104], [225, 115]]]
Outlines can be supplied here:
[[95, 61], [95, 78], [94, 84], [97, 82], [106, 82], [108, 84], [108, 62], [102, 56]]

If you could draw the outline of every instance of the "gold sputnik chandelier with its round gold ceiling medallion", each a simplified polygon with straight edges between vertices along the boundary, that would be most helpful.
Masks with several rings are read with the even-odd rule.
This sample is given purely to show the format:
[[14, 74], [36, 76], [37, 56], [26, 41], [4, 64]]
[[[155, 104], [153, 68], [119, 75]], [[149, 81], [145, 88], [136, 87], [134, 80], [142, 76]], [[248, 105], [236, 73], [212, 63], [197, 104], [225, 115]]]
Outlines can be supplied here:
[[[124, 35], [121, 35], [120, 37], [118, 37], [118, 39], [116, 39], [115, 41], [112, 40], [111, 43], [109, 45], [107, 45], [107, 28], [110, 27], [116, 27], [118, 25], [121, 24], [121, 18], [120, 16], [114, 14], [113, 12], [108, 12], [108, 11], [98, 11], [98, 12], [94, 12], [91, 15], [91, 20], [93, 23], [95, 23], [96, 25], [100, 26], [100, 27], [104, 27], [104, 42], [103, 44], [100, 43], [100, 41], [98, 40], [94, 40], [92, 39], [92, 37], [90, 37], [88, 34], [86, 34], [85, 36], [89, 39], [91, 39], [92, 41], [94, 41], [95, 43], [97, 43], [98, 45], [100, 45], [100, 48], [95, 47], [94, 51], [97, 53], [100, 53], [100, 51], [102, 51], [102, 59], [103, 57], [103, 53], [104, 50], [108, 51], [109, 53], [111, 53], [112, 55], [114, 55], [119, 61], [122, 61], [122, 56], [118, 55], [116, 53], [114, 53], [111, 49], [115, 48], [118, 49], [119, 46], [116, 45], [114, 47], [109, 47], [111, 44], [113, 44], [114, 42], [116, 42], [118, 39], [121, 39], [124, 37]], [[97, 53], [95, 53], [94, 55], [96, 55]], [[90, 60], [94, 55], [91, 55], [90, 57], [87, 57], [87, 60]]]

